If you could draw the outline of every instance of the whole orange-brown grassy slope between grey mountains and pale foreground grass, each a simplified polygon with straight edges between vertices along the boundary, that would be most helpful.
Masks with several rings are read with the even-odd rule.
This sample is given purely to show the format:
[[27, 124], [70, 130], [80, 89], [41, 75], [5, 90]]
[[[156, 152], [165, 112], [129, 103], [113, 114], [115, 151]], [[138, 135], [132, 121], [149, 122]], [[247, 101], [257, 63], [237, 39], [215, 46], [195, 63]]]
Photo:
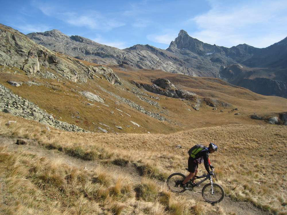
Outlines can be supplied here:
[[[92, 63], [88, 64], [93, 65]], [[160, 100], [148, 97], [150, 100], [157, 101], [161, 106], [161, 108], [154, 107], [138, 99], [131, 92], [131, 88], [135, 87], [135, 85], [127, 82], [125, 82], [124, 86], [111, 85], [105, 79], [97, 78], [88, 80], [87, 83], [74, 83], [66, 79], [61, 79], [60, 82], [58, 82], [57, 80], [41, 79], [36, 76], [23, 75], [24, 73], [21, 71], [21, 74], [13, 73], [13, 70], [16, 70], [16, 68], [9, 71], [6, 67], [5, 72], [0, 73], [0, 83], [11, 89], [14, 93], [36, 103], [56, 117], [61, 117], [63, 121], [76, 124], [90, 131], [98, 131], [98, 126], [100, 126], [98, 123], [100, 122], [114, 128], [113, 131], [110, 131], [118, 133], [146, 133], [148, 131], [152, 133], [170, 133], [190, 128], [220, 126], [224, 124], [262, 125], [265, 124], [264, 121], [251, 120], [250, 115], [256, 113], [259, 115], [277, 116], [279, 112], [285, 112], [287, 110], [286, 99], [262, 96], [244, 88], [234, 87], [219, 79], [194, 78], [162, 71], [139, 69], [136, 71], [119, 71], [118, 68], [115, 68], [115, 71], [123, 80], [127, 78], [127, 74], [135, 81], [140, 79], [141, 81], [146, 82], [150, 82], [151, 79], [157, 77], [167, 77], [171, 81], [177, 80], [183, 89], [194, 91], [201, 96], [218, 98], [232, 105], [228, 108], [217, 107], [218, 110], [213, 111], [212, 107], [203, 104], [202, 107], [200, 107], [200, 111], [195, 111], [191, 107], [193, 104], [192, 102], [181, 101], [180, 99], [165, 96], [159, 96]], [[29, 87], [28, 85], [23, 84], [20, 87], [12, 87], [7, 83], [9, 80], [35, 80], [43, 85], [39, 87]], [[183, 85], [192, 85], [198, 87], [198, 89], [186, 86], [183, 87]], [[154, 113], [160, 113], [167, 110], [168, 115], [165, 113], [160, 114], [171, 120], [171, 122], [161, 122], [142, 114], [125, 103], [119, 103], [118, 99], [102, 91], [100, 87], [123, 98], [134, 101], [144, 107], [145, 110]], [[105, 104], [109, 105], [109, 107], [97, 102], [90, 102], [77, 91], [90, 91], [100, 95], [105, 99]], [[155, 95], [153, 93], [145, 93]], [[87, 103], [93, 103], [94, 106], [87, 105]], [[163, 109], [163, 107], [165, 109]], [[236, 107], [239, 108], [238, 112], [240, 115], [234, 115], [235, 112], [231, 111]], [[115, 108], [124, 111], [131, 115], [131, 117], [119, 112]], [[190, 109], [190, 111], [188, 109]], [[220, 112], [220, 110], [224, 110], [224, 112]], [[111, 114], [111, 111], [113, 111], [114, 114]], [[79, 112], [79, 114], [77, 112]], [[120, 114], [123, 114], [123, 116]], [[80, 116], [80, 119], [72, 118], [75, 116]], [[137, 126], [134, 126], [130, 121], [138, 123], [141, 127], [138, 128]], [[124, 129], [119, 130], [115, 126], [122, 126]], [[128, 128], [127, 126], [131, 127]]]

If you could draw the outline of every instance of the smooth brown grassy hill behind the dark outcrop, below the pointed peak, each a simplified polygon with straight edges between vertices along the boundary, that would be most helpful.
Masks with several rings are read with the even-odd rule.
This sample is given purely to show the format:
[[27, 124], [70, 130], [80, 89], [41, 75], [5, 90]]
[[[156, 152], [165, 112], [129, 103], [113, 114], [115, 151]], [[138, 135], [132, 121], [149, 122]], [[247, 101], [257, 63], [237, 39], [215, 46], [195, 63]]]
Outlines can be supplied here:
[[151, 83], [157, 78], [169, 79], [179, 88], [192, 91], [202, 97], [217, 98], [240, 108], [245, 114], [262, 114], [270, 116], [287, 110], [287, 100], [277, 96], [264, 96], [243, 87], [224, 82], [216, 78], [190, 77], [187, 75], [167, 73], [131, 67], [112, 67], [123, 79]]

